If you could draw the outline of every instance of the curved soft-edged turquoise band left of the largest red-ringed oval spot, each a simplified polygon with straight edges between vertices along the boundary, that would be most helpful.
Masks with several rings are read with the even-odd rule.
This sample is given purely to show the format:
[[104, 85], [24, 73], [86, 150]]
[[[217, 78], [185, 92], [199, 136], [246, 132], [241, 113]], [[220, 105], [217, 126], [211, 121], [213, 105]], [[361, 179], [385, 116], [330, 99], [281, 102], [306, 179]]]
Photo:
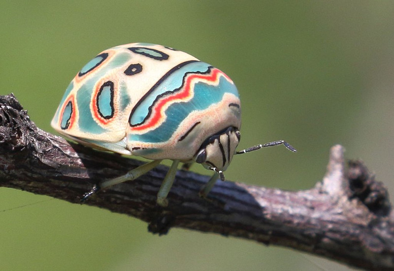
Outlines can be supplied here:
[[[95, 76], [91, 79], [87, 80], [85, 84], [83, 84], [80, 89], [77, 91], [76, 100], [78, 103], [78, 111], [79, 111], [79, 128], [82, 132], [92, 133], [92, 134], [102, 134], [105, 132], [110, 132], [107, 129], [102, 128], [99, 124], [93, 119], [92, 112], [90, 111], [90, 101], [92, 99], [92, 93], [94, 90], [94, 86], [97, 81], [103, 77], [105, 74], [112, 70], [113, 68], [117, 68], [121, 65], [124, 65], [131, 59], [131, 54], [119, 53], [115, 56], [112, 61], [108, 62], [108, 65], [105, 65], [104, 68], [100, 69], [99, 72], [95, 73]], [[122, 88], [121, 88], [122, 89]], [[122, 92], [126, 91], [125, 87], [123, 87]], [[124, 94], [122, 94], [124, 95]], [[94, 97], [96, 99], [96, 97]], [[103, 104], [109, 104], [108, 100], [105, 100], [105, 96], [103, 99]], [[102, 107], [105, 111], [108, 112], [108, 107]], [[101, 109], [101, 108], [100, 108]]]

